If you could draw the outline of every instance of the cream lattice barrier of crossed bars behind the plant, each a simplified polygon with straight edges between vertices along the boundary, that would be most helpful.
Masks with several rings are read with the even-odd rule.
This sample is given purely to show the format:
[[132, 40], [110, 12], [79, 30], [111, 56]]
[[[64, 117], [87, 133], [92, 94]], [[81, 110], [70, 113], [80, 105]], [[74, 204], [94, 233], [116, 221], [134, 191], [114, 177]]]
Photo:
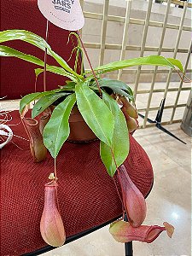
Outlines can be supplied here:
[[[83, 0], [81, 0], [81, 2], [83, 2]], [[186, 63], [184, 65], [184, 73], [191, 73], [191, 69], [188, 69], [189, 57], [190, 57], [190, 54], [191, 54], [191, 47], [190, 47], [190, 49], [180, 48], [179, 43], [180, 43], [180, 40], [182, 38], [182, 32], [183, 31], [192, 32], [192, 27], [191, 26], [184, 26], [183, 25], [184, 19], [185, 19], [185, 16], [186, 16], [186, 12], [187, 12], [187, 8], [191, 8], [192, 3], [182, 2], [182, 1], [178, 1], [178, 0], [163, 0], [162, 2], [167, 3], [166, 4], [166, 14], [165, 14], [163, 22], [150, 20], [150, 14], [151, 14], [152, 6], [153, 6], [153, 4], [157, 4], [157, 3], [153, 3], [153, 0], [148, 0], [148, 9], [147, 9], [147, 12], [146, 12], [146, 16], [143, 20], [142, 19], [133, 19], [133, 18], [130, 17], [132, 0], [127, 1], [125, 17], [115, 16], [115, 15], [108, 15], [109, 0], [108, 1], [103, 1], [104, 4], [103, 4], [103, 13], [102, 14], [92, 13], [92, 12], [85, 12], [84, 11], [84, 17], [85, 18], [102, 20], [101, 43], [98, 44], [98, 43], [94, 43], [94, 42], [85, 42], [84, 43], [85, 47], [90, 48], [90, 49], [100, 49], [100, 60], [99, 60], [100, 65], [102, 65], [103, 61], [104, 61], [105, 49], [119, 49], [120, 50], [119, 60], [123, 60], [125, 58], [125, 52], [127, 50], [140, 51], [140, 56], [141, 57], [144, 55], [145, 51], [154, 51], [154, 52], [157, 52], [157, 55], [160, 55], [161, 53], [164, 53], [164, 52], [170, 52], [170, 53], [173, 53], [173, 55], [172, 55], [173, 58], [176, 58], [177, 53], [183, 53], [183, 54], [187, 54]], [[183, 9], [181, 9], [182, 16], [181, 16], [181, 20], [180, 20], [179, 25], [167, 22], [168, 21], [169, 10], [171, 8], [174, 8], [174, 7], [171, 7], [171, 3], [174, 3], [177, 6], [178, 5], [183, 6]], [[120, 22], [120, 23], [124, 24], [122, 44], [106, 44], [108, 21]], [[128, 35], [129, 35], [129, 25], [130, 24], [143, 25], [143, 39], [142, 39], [141, 45], [128, 45], [127, 44], [128, 37], [129, 37]], [[161, 27], [162, 28], [161, 37], [160, 37], [160, 44], [158, 46], [151, 47], [151, 46], [146, 45], [148, 27], [150, 27], [150, 26]], [[164, 42], [165, 33], [166, 33], [167, 28], [177, 30], [176, 44], [175, 44], [175, 47], [173, 47], [173, 48], [167, 48], [167, 47], [163, 46], [163, 42]], [[163, 98], [166, 98], [166, 95], [167, 95], [168, 92], [177, 91], [177, 97], [176, 97], [174, 105], [168, 105], [168, 106], [166, 105], [165, 106], [165, 109], [166, 108], [172, 108], [172, 117], [168, 122], [163, 122], [162, 124], [172, 124], [172, 123], [176, 123], [176, 122], [181, 121], [181, 119], [174, 119], [175, 112], [176, 112], [177, 108], [183, 108], [183, 107], [186, 106], [186, 104], [178, 104], [178, 99], [179, 99], [181, 91], [182, 90], [190, 90], [190, 87], [189, 86], [188, 87], [186, 87], [186, 86], [183, 87], [183, 79], [182, 79], [178, 87], [169, 88], [169, 85], [170, 85], [170, 82], [171, 82], [171, 79], [172, 79], [172, 73], [176, 73], [175, 71], [172, 71], [172, 70], [170, 71], [168, 69], [158, 70], [158, 67], [154, 67], [154, 69], [143, 69], [142, 70], [142, 67], [137, 67], [137, 69], [120, 70], [117, 74], [117, 79], [121, 79], [122, 75], [126, 74], [126, 73], [136, 73], [136, 79], [135, 79], [135, 83], [134, 83], [134, 97], [135, 98], [137, 98], [137, 95], [148, 94], [148, 102], [147, 102], [146, 108], [138, 109], [138, 111], [140, 111], [140, 112], [145, 112], [143, 125], [140, 125], [140, 128], [145, 128], [147, 126], [149, 127], [149, 126], [153, 125], [153, 124], [148, 123], [148, 113], [150, 111], [159, 110], [159, 106], [156, 106], [155, 108], [151, 107], [152, 96], [154, 95], [154, 93], [157, 93], [157, 92], [164, 92]], [[151, 81], [150, 90], [139, 90], [139, 79], [140, 79], [140, 75], [143, 74], [143, 73], [152, 74], [152, 81]], [[156, 75], [158, 73], [167, 74], [166, 88], [165, 89], [154, 89]]]

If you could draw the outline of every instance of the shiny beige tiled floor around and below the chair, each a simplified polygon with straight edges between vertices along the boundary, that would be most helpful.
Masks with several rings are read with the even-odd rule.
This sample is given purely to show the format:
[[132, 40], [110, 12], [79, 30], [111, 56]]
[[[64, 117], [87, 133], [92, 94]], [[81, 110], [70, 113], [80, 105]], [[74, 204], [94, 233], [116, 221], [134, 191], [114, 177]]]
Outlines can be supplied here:
[[[18, 108], [18, 102], [1, 102], [1, 108]], [[135, 133], [137, 142], [148, 153], [154, 167], [154, 188], [148, 196], [148, 213], [144, 224], [175, 226], [169, 239], [165, 232], [151, 244], [134, 241], [135, 256], [191, 255], [191, 159], [190, 137], [179, 124], [166, 125], [187, 144], [178, 142], [156, 128], [141, 129]], [[78, 241], [44, 253], [44, 256], [123, 256], [124, 244], [113, 240], [108, 226]]]

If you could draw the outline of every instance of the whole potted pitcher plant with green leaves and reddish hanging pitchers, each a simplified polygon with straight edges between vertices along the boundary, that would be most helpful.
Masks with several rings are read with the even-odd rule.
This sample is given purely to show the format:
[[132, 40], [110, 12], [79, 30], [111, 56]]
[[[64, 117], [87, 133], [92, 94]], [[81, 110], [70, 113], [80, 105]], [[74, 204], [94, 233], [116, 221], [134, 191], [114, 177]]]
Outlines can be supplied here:
[[[79, 40], [76, 50], [82, 54], [81, 48], [84, 49], [84, 44], [79, 33], [76, 36]], [[102, 78], [102, 74], [141, 65], [177, 68], [183, 73], [181, 62], [161, 55], [149, 55], [115, 61], [96, 68], [90, 66], [91, 72], [84, 72], [81, 68], [81, 73], [77, 73], [76, 68], [69, 67], [67, 61], [57, 55], [44, 38], [34, 33], [25, 30], [0, 32], [0, 43], [11, 40], [22, 40], [43, 51], [46, 50], [58, 66], [50, 66], [36, 56], [27, 55], [2, 44], [1, 56], [17, 57], [36, 64], [37, 77], [46, 71], [68, 79], [66, 84], [58, 86], [55, 90], [34, 92], [20, 100], [20, 117], [30, 137], [33, 159], [36, 162], [44, 160], [47, 149], [56, 159], [67, 140], [87, 142], [99, 139], [101, 159], [108, 174], [113, 177], [117, 172], [119, 177], [123, 204], [129, 220], [129, 223], [118, 220], [111, 224], [110, 233], [113, 237], [121, 242], [132, 240], [151, 242], [163, 230], [167, 231], [168, 236], [172, 236], [174, 228], [170, 224], [164, 223], [164, 227], [142, 225], [146, 216], [146, 203], [123, 165], [129, 154], [129, 132], [135, 131], [138, 126], [133, 92], [124, 82]], [[85, 49], [84, 53], [87, 55]], [[29, 119], [25, 114], [31, 102], [35, 103], [32, 108], [32, 118]], [[53, 201], [50, 203], [45, 199], [40, 230], [44, 241], [52, 246], [61, 246], [66, 235], [55, 203], [57, 177], [52, 173], [49, 179], [50, 182], [45, 185], [45, 198], [53, 195]], [[51, 221], [53, 219], [56, 221]]]

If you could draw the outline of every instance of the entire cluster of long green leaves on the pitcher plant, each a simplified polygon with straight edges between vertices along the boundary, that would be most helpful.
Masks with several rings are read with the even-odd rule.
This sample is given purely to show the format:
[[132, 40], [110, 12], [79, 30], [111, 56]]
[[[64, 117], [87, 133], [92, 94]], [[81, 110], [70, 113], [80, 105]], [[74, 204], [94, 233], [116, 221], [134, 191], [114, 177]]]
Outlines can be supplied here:
[[[44, 128], [44, 144], [49, 149], [52, 157], [57, 157], [63, 143], [65, 143], [69, 136], [70, 127], [68, 119], [74, 104], [77, 104], [84, 121], [101, 141], [101, 158], [108, 170], [108, 174], [112, 177], [117, 167], [125, 161], [129, 154], [129, 133], [124, 114], [121, 112], [118, 103], [109, 95], [114, 93], [119, 96], [126, 96], [130, 102], [133, 102], [134, 98], [131, 88], [124, 82], [113, 79], [101, 79], [99, 75], [140, 65], [165, 66], [174, 69], [177, 67], [183, 72], [183, 66], [180, 61], [160, 55], [114, 61], [94, 69], [102, 90], [102, 96], [100, 96], [92, 73], [84, 73], [83, 69], [81, 74], [76, 73], [60, 55], [57, 55], [51, 49], [44, 38], [25, 30], [0, 32], [0, 43], [11, 40], [25, 41], [44, 51], [47, 49], [48, 55], [57, 61], [58, 67], [46, 64], [46, 70], [70, 79], [65, 85], [60, 86], [59, 89], [35, 92], [24, 96], [20, 101], [20, 113], [23, 112], [26, 105], [30, 102], [37, 101], [32, 109], [32, 118], [35, 118], [51, 104], [61, 100]], [[35, 69], [36, 77], [44, 72], [44, 61], [36, 56], [20, 52], [17, 49], [1, 44], [0, 56], [17, 57], [36, 64], [38, 66]]]

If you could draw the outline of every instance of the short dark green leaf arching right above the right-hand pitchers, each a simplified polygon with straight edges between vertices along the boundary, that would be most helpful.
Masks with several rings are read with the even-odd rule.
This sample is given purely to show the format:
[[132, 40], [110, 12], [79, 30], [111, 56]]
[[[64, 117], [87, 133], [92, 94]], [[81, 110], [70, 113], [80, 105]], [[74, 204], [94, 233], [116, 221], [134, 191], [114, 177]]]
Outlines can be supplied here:
[[100, 79], [99, 85], [101, 88], [108, 87], [119, 95], [128, 97], [132, 102], [134, 102], [133, 92], [129, 85], [121, 82], [119, 80], [112, 79]]

